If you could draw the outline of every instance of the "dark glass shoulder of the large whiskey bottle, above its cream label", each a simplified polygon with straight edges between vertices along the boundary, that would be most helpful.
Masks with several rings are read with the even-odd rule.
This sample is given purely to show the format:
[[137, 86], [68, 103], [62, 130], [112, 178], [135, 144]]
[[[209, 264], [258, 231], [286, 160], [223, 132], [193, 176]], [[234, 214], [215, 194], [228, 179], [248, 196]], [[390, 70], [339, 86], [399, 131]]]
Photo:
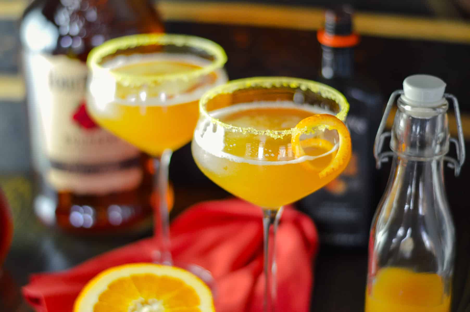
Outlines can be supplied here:
[[151, 3], [141, 1], [36, 0], [25, 10], [19, 27], [27, 50], [67, 54], [85, 61], [88, 52], [118, 36], [162, 32], [163, 23]]

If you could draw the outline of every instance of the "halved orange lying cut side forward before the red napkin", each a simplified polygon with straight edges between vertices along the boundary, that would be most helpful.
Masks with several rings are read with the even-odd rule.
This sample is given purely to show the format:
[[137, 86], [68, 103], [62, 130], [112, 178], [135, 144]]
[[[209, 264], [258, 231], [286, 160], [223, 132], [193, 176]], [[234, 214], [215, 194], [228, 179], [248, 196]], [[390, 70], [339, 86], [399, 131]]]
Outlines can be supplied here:
[[74, 312], [214, 312], [211, 290], [174, 266], [116, 266], [86, 284]]

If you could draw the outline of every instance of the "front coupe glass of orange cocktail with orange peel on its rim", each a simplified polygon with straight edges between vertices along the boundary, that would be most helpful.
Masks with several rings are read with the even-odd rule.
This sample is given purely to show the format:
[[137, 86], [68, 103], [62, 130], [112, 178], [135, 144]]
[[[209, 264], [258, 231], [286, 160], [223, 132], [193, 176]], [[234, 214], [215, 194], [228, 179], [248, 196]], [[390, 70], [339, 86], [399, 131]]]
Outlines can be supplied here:
[[201, 171], [262, 208], [265, 311], [275, 311], [274, 243], [282, 206], [320, 189], [351, 156], [342, 121], [349, 105], [335, 89], [287, 77], [235, 80], [204, 94], [192, 153]]

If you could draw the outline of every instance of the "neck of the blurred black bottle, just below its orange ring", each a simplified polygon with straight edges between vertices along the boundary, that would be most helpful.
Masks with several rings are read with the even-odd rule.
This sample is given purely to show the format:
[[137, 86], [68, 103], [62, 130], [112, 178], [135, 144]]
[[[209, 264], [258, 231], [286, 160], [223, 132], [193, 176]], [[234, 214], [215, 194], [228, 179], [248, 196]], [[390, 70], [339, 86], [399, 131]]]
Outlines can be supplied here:
[[351, 78], [354, 74], [354, 48], [321, 46], [321, 76], [325, 79]]

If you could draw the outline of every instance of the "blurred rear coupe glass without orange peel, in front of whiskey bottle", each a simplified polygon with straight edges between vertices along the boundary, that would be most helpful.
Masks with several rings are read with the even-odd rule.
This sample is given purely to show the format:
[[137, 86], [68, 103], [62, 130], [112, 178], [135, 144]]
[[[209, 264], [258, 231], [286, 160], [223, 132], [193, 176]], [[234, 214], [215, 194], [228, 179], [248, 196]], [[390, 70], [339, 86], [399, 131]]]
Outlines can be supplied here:
[[104, 129], [154, 158], [156, 263], [173, 263], [166, 201], [172, 152], [191, 140], [202, 94], [227, 82], [226, 61], [218, 44], [173, 34], [112, 39], [88, 56], [88, 112]]

